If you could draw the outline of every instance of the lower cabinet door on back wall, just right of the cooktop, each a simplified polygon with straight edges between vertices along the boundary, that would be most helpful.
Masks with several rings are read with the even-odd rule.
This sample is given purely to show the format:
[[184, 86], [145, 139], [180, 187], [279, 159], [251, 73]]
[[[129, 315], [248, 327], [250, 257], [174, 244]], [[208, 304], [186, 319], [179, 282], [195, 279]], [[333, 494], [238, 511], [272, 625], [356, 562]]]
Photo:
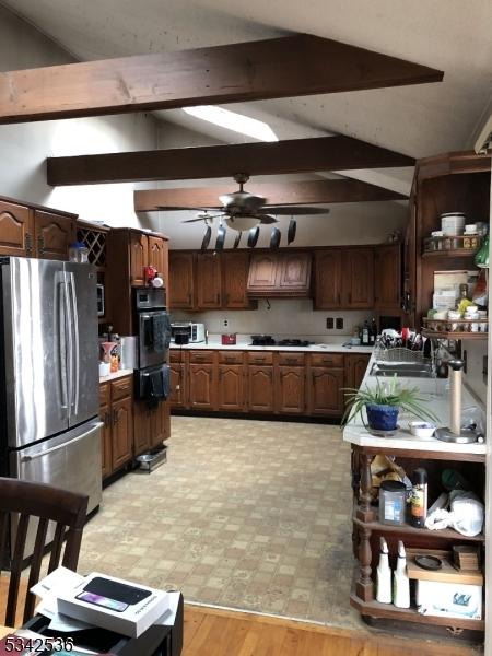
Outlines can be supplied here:
[[343, 413], [343, 370], [311, 367], [308, 413], [341, 417]]

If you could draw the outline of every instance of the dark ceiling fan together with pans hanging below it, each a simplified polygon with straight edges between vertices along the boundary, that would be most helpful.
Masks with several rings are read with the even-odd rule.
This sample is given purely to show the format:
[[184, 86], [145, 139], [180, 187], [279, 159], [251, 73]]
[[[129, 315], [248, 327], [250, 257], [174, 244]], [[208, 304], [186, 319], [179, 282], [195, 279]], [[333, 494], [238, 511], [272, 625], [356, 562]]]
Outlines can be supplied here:
[[[237, 191], [231, 194], [224, 194], [219, 197], [219, 200], [223, 204], [222, 210], [216, 208], [196, 208], [199, 210], [199, 214], [195, 219], [188, 219], [183, 223], [194, 223], [196, 221], [204, 221], [207, 225], [207, 232], [203, 237], [202, 250], [204, 250], [211, 237], [211, 226], [214, 219], [220, 220], [220, 226], [218, 231], [218, 239], [215, 249], [222, 249], [225, 239], [225, 227], [238, 231], [238, 235], [234, 242], [234, 248], [237, 248], [241, 242], [241, 233], [249, 231], [248, 246], [254, 247], [258, 239], [259, 225], [269, 225], [277, 223], [278, 219], [276, 215], [291, 215], [294, 214], [327, 214], [329, 212], [326, 208], [315, 208], [312, 206], [268, 206], [267, 199], [256, 194], [250, 194], [244, 190], [244, 185], [248, 181], [249, 176], [245, 173], [237, 173], [234, 176], [235, 181], [239, 185]], [[178, 209], [178, 208], [176, 208]], [[185, 209], [185, 208], [184, 208]], [[189, 208], [187, 208], [189, 209]], [[289, 226], [288, 243], [294, 241], [295, 236], [295, 221], [291, 219]], [[277, 227], [272, 229], [270, 247], [276, 248], [280, 244], [280, 231]]]

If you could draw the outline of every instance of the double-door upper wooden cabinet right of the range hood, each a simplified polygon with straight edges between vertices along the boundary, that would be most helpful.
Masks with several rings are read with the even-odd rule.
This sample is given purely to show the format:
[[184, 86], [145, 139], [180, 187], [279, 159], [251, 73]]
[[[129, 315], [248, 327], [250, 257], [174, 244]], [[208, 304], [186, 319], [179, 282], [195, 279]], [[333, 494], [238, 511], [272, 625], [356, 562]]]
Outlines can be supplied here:
[[326, 248], [315, 255], [315, 309], [374, 307], [374, 251]]

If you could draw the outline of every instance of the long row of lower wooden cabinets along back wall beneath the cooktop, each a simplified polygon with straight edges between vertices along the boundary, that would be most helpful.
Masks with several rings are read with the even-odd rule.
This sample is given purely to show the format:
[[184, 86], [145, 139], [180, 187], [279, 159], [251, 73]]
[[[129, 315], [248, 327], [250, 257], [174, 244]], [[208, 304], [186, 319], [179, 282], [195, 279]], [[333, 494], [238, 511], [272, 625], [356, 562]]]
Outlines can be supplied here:
[[[171, 407], [181, 410], [341, 418], [370, 354], [171, 351]], [[142, 443], [143, 444], [143, 443]]]

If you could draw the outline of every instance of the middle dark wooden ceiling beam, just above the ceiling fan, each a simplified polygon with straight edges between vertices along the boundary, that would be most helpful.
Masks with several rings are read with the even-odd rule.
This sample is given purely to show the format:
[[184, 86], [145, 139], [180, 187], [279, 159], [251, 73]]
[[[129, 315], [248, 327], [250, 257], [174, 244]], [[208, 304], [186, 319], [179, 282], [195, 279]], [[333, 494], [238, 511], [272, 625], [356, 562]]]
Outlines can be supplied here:
[[413, 166], [412, 157], [351, 137], [207, 145], [169, 150], [48, 157], [52, 187], [103, 183], [274, 175]]

